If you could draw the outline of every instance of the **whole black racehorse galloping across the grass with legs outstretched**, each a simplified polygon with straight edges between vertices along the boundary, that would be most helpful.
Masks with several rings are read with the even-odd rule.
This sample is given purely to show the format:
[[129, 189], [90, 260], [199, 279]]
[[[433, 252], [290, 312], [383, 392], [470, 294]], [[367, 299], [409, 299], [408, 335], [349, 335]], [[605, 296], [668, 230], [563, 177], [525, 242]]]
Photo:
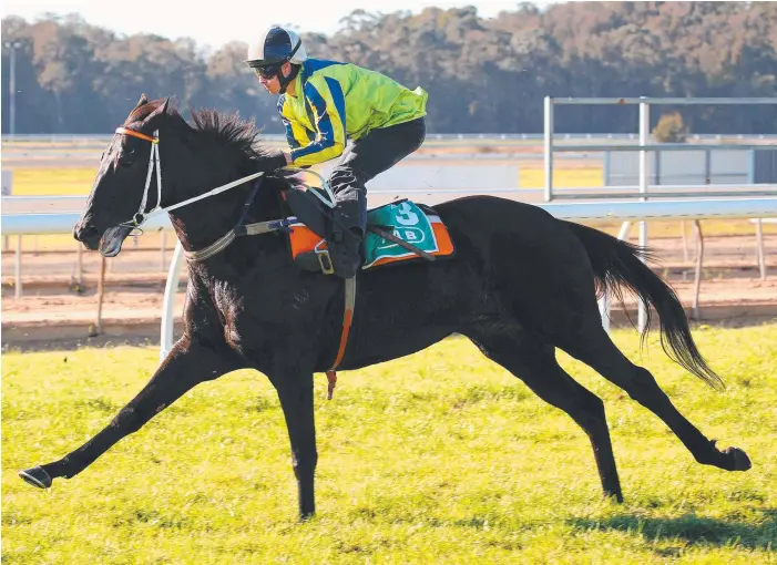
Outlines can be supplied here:
[[[267, 167], [252, 123], [208, 110], [193, 112], [193, 122], [166, 100], [141, 97], [102, 156], [74, 228], [78, 240], [115, 255], [132, 230], [133, 214], [139, 206], [141, 213], [151, 209], [157, 194], [166, 207]], [[164, 167], [153, 166], [152, 148], [164, 157]], [[267, 176], [245, 214], [252, 183], [170, 216], [184, 249], [197, 251], [219, 240], [242, 215], [253, 223], [284, 217], [279, 193], [289, 187], [283, 177]], [[648, 311], [657, 311], [667, 355], [713, 387], [723, 386], [697, 350], [677, 296], [641, 260], [647, 257], [644, 249], [508, 199], [473, 196], [436, 209], [452, 235], [456, 256], [361, 271], [341, 369], [407, 356], [452, 333], [466, 336], [583, 428], [604, 493], [620, 502], [604, 405], [560, 367], [560, 348], [653, 411], [699, 463], [727, 471], [750, 468], [744, 451], [718, 450], [688, 422], [651, 373], [626, 359], [602, 328], [597, 294], [630, 289]], [[190, 261], [184, 335], [151, 381], [82, 446], [20, 475], [40, 487], [73, 477], [194, 386], [253, 368], [278, 392], [299, 512], [311, 515], [318, 459], [313, 376], [329, 369], [337, 356], [345, 285], [339, 277], [299, 269], [286, 237], [283, 232], [238, 237], [212, 257]]]

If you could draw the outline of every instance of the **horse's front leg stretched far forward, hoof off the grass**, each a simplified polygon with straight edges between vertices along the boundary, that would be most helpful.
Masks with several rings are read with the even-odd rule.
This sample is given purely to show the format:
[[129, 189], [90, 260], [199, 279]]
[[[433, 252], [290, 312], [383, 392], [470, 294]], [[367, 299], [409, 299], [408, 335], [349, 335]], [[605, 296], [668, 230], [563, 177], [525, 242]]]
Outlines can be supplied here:
[[20, 471], [19, 476], [42, 489], [51, 486], [58, 476], [71, 479], [195, 384], [241, 368], [235, 353], [226, 347], [214, 348], [184, 338], [175, 345], [143, 390], [100, 433], [59, 461]]

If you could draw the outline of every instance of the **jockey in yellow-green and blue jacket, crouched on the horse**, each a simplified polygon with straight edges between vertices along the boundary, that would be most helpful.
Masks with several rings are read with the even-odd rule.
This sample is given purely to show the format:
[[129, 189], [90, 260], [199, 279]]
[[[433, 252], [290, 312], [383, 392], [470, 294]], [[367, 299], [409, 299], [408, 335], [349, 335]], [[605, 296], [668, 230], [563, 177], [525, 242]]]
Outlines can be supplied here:
[[428, 94], [351, 63], [308, 58], [299, 37], [279, 27], [259, 34], [246, 63], [267, 92], [278, 95], [290, 148], [274, 155], [278, 167], [340, 157], [329, 177], [338, 222], [327, 243], [333, 263], [348, 278], [361, 261], [365, 184], [421, 146]]

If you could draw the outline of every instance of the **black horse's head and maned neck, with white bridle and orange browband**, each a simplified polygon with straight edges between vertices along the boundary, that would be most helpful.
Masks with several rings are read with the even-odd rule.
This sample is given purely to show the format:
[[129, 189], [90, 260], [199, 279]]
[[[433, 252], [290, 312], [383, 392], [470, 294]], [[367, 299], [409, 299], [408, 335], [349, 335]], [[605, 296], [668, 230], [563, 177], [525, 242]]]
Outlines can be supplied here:
[[[233, 216], [243, 207], [241, 188], [248, 191], [251, 183], [236, 184], [241, 188], [217, 199], [200, 202], [196, 196], [227, 182], [272, 172], [277, 168], [277, 156], [255, 143], [253, 121], [211, 110], [192, 115], [194, 125], [168, 109], [167, 100], [149, 102], [141, 96], [103, 153], [86, 208], [73, 229], [75, 239], [113, 257], [146, 216], [162, 212], [159, 208], [175, 208], [174, 224], [184, 247], [187, 242], [194, 246], [223, 235], [218, 233], [225, 229], [223, 224], [234, 223]], [[195, 238], [201, 242], [192, 242], [192, 234], [185, 233], [188, 220], [196, 225]]]

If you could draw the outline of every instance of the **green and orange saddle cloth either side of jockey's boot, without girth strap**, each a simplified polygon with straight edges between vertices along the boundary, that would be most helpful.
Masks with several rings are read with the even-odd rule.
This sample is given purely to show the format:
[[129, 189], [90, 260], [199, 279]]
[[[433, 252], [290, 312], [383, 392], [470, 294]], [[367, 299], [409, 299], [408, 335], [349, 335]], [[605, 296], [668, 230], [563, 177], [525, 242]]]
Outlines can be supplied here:
[[[337, 214], [313, 191], [316, 188], [290, 186], [282, 193], [290, 213], [292, 257], [300, 269], [339, 275], [328, 246], [334, 240]], [[399, 261], [453, 257], [456, 248], [437, 212], [406, 198], [367, 210], [367, 233], [360, 254], [365, 270]]]

